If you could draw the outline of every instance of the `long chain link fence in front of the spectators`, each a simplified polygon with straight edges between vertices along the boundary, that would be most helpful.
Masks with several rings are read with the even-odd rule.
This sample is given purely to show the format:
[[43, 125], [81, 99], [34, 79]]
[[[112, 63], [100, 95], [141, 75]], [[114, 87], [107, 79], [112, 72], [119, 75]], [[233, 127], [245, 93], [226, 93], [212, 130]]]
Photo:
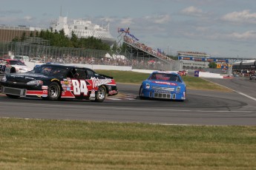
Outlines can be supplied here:
[[[133, 69], [179, 70], [179, 61], [165, 63], [158, 58], [134, 55], [129, 52], [108, 52], [68, 47], [51, 47], [27, 42], [0, 42], [0, 58], [24, 55], [42, 62], [62, 64], [97, 64], [129, 66]], [[2, 56], [2, 57], [1, 57]]]

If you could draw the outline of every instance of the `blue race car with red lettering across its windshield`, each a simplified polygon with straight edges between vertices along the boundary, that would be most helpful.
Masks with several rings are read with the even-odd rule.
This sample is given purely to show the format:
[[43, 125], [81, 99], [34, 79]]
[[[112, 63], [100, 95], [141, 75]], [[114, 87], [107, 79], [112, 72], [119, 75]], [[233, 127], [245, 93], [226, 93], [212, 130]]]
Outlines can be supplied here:
[[175, 72], [155, 71], [142, 82], [139, 96], [140, 99], [161, 98], [185, 101], [186, 84]]

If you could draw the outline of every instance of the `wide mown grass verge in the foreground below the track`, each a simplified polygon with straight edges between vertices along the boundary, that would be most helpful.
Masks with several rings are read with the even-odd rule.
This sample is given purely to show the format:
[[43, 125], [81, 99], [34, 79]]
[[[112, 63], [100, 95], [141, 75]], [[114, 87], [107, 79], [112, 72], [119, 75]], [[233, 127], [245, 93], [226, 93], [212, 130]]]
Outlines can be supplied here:
[[0, 118], [1, 169], [255, 169], [255, 126]]

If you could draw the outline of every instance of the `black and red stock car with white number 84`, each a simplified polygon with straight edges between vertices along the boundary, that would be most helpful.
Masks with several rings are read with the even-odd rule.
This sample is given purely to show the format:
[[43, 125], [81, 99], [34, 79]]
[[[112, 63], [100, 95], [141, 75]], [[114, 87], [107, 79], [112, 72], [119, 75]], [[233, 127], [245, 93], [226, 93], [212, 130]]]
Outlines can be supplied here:
[[85, 67], [42, 64], [30, 72], [5, 75], [1, 93], [10, 98], [39, 97], [57, 101], [62, 98], [102, 102], [106, 95], [117, 95], [112, 77], [99, 75]]

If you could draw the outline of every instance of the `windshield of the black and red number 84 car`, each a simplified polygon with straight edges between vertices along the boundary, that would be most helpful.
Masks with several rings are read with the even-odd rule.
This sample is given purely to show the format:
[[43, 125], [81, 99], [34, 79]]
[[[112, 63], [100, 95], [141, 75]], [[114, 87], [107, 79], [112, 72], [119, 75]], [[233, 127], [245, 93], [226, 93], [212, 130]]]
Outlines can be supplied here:
[[31, 72], [41, 73], [43, 75], [53, 75], [63, 77], [66, 75], [68, 68], [65, 67], [51, 67], [51, 66], [39, 66], [34, 68]]

